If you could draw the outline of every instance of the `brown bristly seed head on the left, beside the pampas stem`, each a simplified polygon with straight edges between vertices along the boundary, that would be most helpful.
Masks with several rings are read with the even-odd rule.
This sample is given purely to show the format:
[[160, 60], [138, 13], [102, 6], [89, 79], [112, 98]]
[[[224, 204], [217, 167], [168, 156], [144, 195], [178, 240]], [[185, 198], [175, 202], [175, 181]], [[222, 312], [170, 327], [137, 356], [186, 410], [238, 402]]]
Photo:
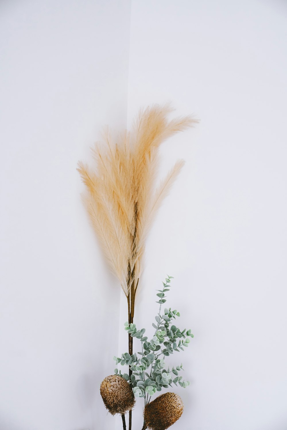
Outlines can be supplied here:
[[100, 393], [111, 415], [125, 414], [135, 405], [133, 388], [119, 375], [107, 376], [102, 381]]

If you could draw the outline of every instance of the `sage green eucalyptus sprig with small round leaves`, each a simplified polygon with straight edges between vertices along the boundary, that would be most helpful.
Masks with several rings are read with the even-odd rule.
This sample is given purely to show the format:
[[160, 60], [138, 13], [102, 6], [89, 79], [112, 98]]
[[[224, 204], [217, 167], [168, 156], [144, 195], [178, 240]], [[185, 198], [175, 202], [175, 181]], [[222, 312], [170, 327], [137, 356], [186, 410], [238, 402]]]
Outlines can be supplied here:
[[179, 312], [165, 308], [164, 313], [161, 313], [161, 306], [166, 302], [167, 291], [170, 291], [170, 280], [173, 276], [167, 276], [165, 279], [164, 288], [157, 290], [157, 303], [160, 304], [159, 312], [155, 316], [155, 323], [152, 326], [155, 329], [154, 336], [148, 341], [148, 337], [144, 336], [145, 329], [137, 330], [136, 324], [125, 322], [125, 330], [130, 333], [133, 338], [140, 340], [142, 344], [142, 352], [138, 354], [142, 357], [129, 353], [122, 354], [121, 357], [115, 357], [114, 360], [120, 365], [129, 365], [132, 371], [131, 376], [127, 373], [121, 374], [118, 369], [114, 369], [116, 375], [122, 376], [133, 386], [133, 392], [136, 397], [144, 397], [145, 402], [148, 402], [148, 396], [152, 396], [162, 388], [168, 388], [172, 384], [180, 385], [180, 387], [187, 387], [190, 382], [183, 381], [179, 372], [182, 369], [182, 363], [176, 368], [170, 369], [166, 367], [161, 356], [169, 356], [175, 351], [180, 352], [187, 347], [190, 339], [193, 338], [191, 330], [180, 330], [175, 325], [172, 325], [173, 320], [179, 317]]

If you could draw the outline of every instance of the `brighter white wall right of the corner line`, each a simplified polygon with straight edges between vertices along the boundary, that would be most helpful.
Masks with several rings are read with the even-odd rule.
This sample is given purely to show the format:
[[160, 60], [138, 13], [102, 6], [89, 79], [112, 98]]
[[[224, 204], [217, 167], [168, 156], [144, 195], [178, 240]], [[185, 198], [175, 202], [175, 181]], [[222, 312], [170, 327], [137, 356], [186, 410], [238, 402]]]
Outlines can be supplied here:
[[170, 304], [194, 339], [173, 357], [191, 381], [174, 430], [287, 428], [286, 18], [283, 1], [132, 1], [129, 121], [167, 100], [201, 118], [162, 147], [163, 170], [186, 166], [136, 309], [146, 326], [175, 276]]

